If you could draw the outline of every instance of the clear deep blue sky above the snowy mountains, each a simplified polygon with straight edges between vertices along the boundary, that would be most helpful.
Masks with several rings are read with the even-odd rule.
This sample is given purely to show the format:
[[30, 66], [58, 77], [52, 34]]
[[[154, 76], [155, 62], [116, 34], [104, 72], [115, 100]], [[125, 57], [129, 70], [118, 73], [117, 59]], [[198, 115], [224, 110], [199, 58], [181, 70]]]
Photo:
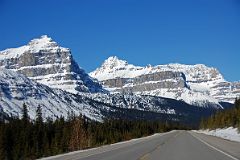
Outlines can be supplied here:
[[0, 50], [43, 34], [87, 72], [116, 55], [142, 66], [203, 63], [240, 80], [239, 0], [0, 0]]

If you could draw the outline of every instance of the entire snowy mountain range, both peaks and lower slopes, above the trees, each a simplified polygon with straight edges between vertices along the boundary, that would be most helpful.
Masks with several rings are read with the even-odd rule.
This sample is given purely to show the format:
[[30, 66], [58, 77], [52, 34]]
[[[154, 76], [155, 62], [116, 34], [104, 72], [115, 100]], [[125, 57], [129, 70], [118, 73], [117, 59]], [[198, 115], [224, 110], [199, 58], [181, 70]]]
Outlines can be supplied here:
[[91, 76], [96, 79], [78, 66], [70, 49], [47, 36], [0, 51], [0, 118], [21, 116], [26, 103], [32, 119], [40, 105], [45, 118], [73, 112], [98, 121], [193, 122], [228, 107], [219, 100], [230, 101], [239, 93], [239, 83], [225, 81], [216, 69], [204, 65], [138, 67], [110, 57]]

